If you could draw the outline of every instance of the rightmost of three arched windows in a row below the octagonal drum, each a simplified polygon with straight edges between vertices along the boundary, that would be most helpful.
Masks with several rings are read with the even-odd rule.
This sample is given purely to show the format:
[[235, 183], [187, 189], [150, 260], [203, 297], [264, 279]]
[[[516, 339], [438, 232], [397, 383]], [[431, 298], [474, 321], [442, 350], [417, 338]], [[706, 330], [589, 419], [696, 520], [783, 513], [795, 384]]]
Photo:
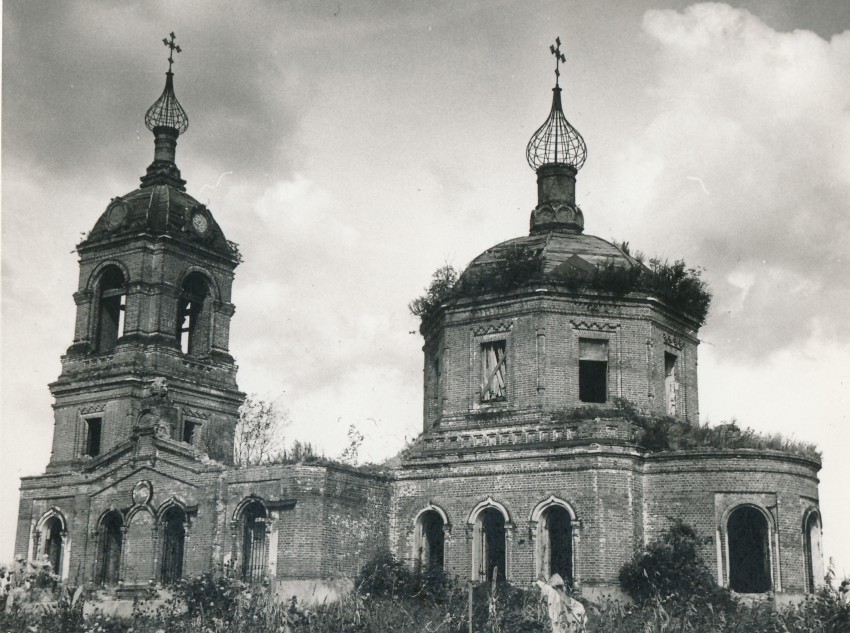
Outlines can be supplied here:
[[575, 582], [577, 521], [572, 507], [552, 496], [532, 512], [535, 530], [535, 567], [547, 578], [558, 574], [567, 585]]

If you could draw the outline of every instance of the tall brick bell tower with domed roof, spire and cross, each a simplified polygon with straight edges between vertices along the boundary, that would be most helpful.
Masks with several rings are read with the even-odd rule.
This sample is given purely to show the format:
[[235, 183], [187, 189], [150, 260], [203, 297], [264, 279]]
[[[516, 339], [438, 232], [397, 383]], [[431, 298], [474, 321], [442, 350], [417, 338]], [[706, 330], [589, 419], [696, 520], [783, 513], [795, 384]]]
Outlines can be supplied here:
[[177, 168], [189, 119], [174, 93], [174, 40], [163, 40], [165, 89], [145, 114], [154, 160], [77, 245], [74, 341], [50, 385], [48, 472], [97, 468], [151, 435], [171, 453], [232, 460], [244, 398], [228, 351], [240, 255]]

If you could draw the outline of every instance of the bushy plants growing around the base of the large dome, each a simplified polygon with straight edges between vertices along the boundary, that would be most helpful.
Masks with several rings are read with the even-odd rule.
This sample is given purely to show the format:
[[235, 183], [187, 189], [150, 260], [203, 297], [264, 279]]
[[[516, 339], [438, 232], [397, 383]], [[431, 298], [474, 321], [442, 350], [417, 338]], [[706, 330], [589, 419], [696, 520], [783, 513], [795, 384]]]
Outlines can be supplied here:
[[[629, 255], [628, 243], [619, 245]], [[473, 297], [489, 293], [507, 292], [539, 283], [565, 286], [570, 290], [592, 290], [617, 297], [632, 292], [652, 295], [675, 310], [690, 315], [700, 324], [705, 323], [711, 305], [711, 292], [702, 279], [702, 270], [690, 268], [684, 261], [672, 264], [667, 260], [650, 259], [643, 263], [638, 253], [638, 264], [623, 266], [614, 259], [587, 268], [571, 267], [558, 273], [543, 270], [542, 251], [525, 245], [503, 249], [499, 259], [477, 264], [462, 275], [445, 264], [432, 275], [425, 294], [410, 302], [414, 316], [428, 321], [439, 307], [453, 297]]]

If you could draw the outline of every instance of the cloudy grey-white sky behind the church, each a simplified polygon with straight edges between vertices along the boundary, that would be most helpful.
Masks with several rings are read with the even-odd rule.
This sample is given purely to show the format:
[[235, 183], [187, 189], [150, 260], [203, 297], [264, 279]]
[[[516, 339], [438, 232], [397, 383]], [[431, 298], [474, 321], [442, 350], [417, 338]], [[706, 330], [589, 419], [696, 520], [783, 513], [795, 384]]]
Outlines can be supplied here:
[[700, 418], [820, 446], [825, 554], [850, 575], [845, 0], [6, 0], [0, 560], [50, 455], [74, 246], [153, 159], [170, 31], [177, 164], [244, 256], [239, 385], [288, 442], [336, 456], [354, 425], [379, 461], [420, 431], [407, 304], [527, 233], [560, 36], [585, 231], [704, 269]]

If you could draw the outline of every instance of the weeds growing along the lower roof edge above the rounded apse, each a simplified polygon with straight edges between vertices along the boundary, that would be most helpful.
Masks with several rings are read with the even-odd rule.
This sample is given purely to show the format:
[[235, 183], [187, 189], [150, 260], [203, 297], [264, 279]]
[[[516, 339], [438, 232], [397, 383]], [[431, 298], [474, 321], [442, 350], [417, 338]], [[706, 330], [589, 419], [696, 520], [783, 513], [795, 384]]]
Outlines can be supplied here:
[[779, 433], [760, 433], [752, 428], [741, 428], [731, 422], [710, 425], [691, 424], [671, 416], [645, 415], [631, 402], [615, 398], [611, 407], [577, 407], [552, 415], [559, 423], [576, 422], [593, 418], [625, 418], [637, 427], [637, 444], [648, 452], [696, 448], [755, 448], [782, 451], [808, 459], [821, 459], [815, 444], [787, 438]]

